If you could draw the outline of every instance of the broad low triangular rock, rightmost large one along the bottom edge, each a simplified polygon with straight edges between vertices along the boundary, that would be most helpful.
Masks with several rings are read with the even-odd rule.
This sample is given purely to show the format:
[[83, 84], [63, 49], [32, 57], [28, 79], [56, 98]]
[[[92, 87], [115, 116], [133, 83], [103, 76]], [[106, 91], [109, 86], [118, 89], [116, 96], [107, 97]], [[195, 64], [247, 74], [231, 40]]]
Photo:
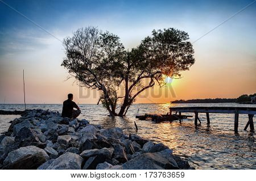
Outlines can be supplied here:
[[122, 165], [125, 170], [163, 170], [179, 169], [172, 165], [166, 158], [155, 153], [144, 153]]

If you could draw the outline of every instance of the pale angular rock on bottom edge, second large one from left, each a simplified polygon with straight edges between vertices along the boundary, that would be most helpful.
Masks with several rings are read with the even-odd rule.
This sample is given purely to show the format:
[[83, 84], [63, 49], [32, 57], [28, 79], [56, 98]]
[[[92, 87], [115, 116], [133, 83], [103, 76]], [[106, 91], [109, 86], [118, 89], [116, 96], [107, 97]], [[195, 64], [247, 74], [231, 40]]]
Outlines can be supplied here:
[[80, 155], [67, 152], [56, 158], [51, 165], [47, 167], [47, 170], [80, 170], [82, 161], [83, 158], [80, 157]]

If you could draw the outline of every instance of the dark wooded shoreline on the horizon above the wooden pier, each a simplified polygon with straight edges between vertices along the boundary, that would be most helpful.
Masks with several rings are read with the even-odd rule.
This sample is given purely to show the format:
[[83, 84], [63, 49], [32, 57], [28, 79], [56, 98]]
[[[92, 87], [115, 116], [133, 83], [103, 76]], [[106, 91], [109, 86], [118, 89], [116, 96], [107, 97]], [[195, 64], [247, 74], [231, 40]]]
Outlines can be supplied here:
[[216, 99], [190, 99], [190, 100], [174, 100], [171, 103], [251, 103], [251, 98], [256, 96], [256, 93], [251, 95], [241, 95], [238, 98], [216, 98]]

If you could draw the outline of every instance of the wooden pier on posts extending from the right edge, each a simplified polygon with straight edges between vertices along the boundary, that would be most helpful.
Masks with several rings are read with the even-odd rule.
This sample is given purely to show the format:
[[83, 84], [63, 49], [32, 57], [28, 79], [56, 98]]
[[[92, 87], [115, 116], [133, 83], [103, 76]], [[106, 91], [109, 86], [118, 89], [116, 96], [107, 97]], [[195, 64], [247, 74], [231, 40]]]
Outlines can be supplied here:
[[179, 112], [181, 116], [182, 112], [193, 112], [195, 113], [195, 125], [197, 126], [197, 121], [199, 119], [198, 113], [206, 113], [207, 124], [210, 124], [209, 113], [233, 113], [234, 114], [234, 132], [238, 132], [238, 118], [240, 114], [246, 114], [249, 117], [249, 120], [243, 130], [246, 131], [247, 127], [250, 125], [250, 130], [254, 131], [253, 116], [256, 114], [256, 107], [171, 107], [170, 115], [172, 112]]

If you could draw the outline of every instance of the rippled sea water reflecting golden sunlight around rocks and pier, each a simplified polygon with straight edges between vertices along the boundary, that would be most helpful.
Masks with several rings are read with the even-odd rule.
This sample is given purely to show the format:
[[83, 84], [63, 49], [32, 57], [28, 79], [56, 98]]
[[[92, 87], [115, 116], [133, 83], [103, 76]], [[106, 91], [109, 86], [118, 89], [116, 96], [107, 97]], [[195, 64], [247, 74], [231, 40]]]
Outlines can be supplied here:
[[[125, 133], [137, 133], [155, 142], [163, 142], [174, 150], [175, 154], [187, 157], [196, 169], [256, 169], [255, 133], [243, 131], [248, 116], [240, 115], [239, 131], [234, 134], [234, 115], [210, 114], [210, 127], [206, 116], [199, 114], [202, 121], [197, 129], [193, 117], [172, 123], [152, 123], [135, 119], [139, 113], [167, 113], [174, 106], [233, 106], [256, 107], [249, 104], [134, 104], [126, 117], [109, 117], [102, 105], [79, 104], [82, 113], [79, 119], [87, 119], [92, 124], [101, 124], [105, 128], [121, 127]], [[28, 104], [27, 109], [40, 108], [61, 112], [61, 104]], [[24, 110], [22, 104], [0, 104], [0, 110]], [[186, 113], [186, 115], [193, 115]], [[16, 115], [0, 115], [0, 133], [7, 131], [9, 121]], [[255, 118], [254, 118], [255, 119]], [[138, 132], [134, 127], [138, 125]], [[255, 125], [256, 126], [256, 125]], [[249, 128], [248, 128], [249, 130]]]

